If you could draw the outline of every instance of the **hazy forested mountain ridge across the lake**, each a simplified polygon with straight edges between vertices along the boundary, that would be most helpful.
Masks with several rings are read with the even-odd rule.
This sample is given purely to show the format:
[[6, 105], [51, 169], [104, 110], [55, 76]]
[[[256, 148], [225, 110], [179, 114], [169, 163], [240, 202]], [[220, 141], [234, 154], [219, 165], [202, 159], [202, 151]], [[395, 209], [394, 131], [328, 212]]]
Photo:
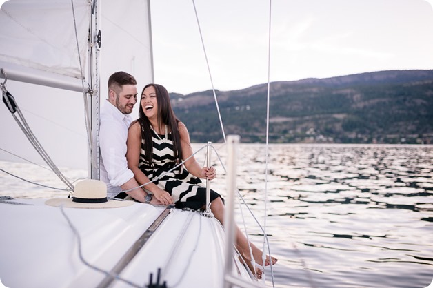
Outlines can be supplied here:
[[[267, 84], [216, 91], [225, 134], [265, 143]], [[212, 90], [170, 93], [192, 142], [223, 141]], [[433, 143], [433, 70], [270, 83], [270, 143]]]

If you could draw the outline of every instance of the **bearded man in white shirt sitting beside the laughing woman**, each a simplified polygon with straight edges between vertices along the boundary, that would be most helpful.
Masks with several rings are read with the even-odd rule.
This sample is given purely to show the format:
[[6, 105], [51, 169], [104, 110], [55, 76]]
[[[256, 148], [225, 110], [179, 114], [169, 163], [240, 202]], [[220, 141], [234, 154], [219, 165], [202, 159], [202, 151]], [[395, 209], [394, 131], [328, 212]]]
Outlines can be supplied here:
[[128, 128], [132, 122], [130, 113], [137, 102], [134, 76], [122, 71], [112, 74], [108, 79], [107, 100], [101, 106], [99, 127], [101, 181], [107, 184], [107, 195], [130, 196], [143, 203], [159, 204], [156, 198], [139, 187], [125, 157]]

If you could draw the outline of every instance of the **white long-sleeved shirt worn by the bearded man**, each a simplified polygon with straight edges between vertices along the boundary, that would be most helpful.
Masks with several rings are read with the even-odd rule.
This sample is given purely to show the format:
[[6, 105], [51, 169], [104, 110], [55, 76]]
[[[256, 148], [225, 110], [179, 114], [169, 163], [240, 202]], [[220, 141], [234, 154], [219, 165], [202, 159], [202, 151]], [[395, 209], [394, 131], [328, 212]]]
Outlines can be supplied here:
[[129, 114], [123, 114], [108, 100], [101, 105], [99, 163], [101, 181], [107, 184], [108, 197], [119, 194], [120, 186], [134, 177], [126, 161], [126, 139], [131, 122]]

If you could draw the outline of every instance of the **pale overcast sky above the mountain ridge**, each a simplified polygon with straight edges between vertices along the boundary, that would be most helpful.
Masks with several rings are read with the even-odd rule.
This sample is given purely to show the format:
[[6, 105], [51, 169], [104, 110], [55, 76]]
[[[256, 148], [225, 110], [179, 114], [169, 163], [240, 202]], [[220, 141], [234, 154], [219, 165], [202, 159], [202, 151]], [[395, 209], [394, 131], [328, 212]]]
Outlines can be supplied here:
[[268, 63], [271, 82], [433, 69], [432, 3], [151, 0], [155, 82], [181, 94], [239, 90], [267, 83]]

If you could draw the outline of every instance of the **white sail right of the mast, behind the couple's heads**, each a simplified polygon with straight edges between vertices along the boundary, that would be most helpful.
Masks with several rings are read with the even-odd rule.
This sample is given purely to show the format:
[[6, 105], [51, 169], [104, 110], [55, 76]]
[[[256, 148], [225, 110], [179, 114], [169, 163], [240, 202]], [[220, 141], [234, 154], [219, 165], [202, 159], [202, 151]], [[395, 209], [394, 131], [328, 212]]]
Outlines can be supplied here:
[[[150, 1], [101, 3], [101, 99], [108, 98], [108, 77], [125, 71], [137, 79], [137, 90], [154, 82]], [[132, 118], [137, 118], [138, 104]]]

